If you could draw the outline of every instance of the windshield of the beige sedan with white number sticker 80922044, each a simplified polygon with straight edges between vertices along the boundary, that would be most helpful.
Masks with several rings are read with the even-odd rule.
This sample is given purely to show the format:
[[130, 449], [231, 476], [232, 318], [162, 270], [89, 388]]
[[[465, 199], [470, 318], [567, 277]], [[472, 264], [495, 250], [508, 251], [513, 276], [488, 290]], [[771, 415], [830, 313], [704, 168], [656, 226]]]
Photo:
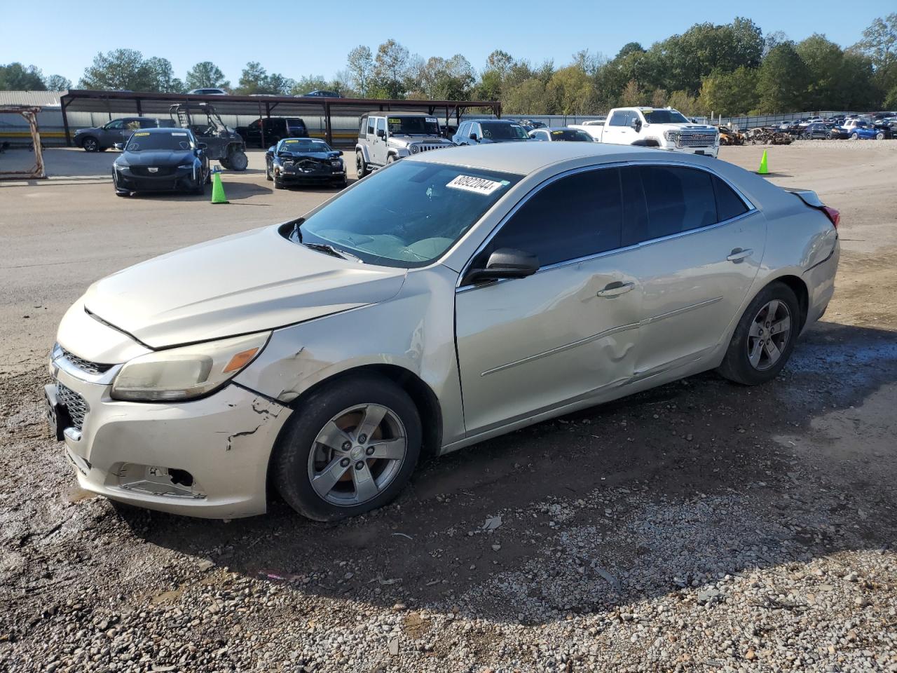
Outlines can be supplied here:
[[[440, 258], [520, 176], [403, 159], [311, 214], [291, 239], [367, 264], [424, 267]], [[287, 232], [289, 233], [289, 232]]]

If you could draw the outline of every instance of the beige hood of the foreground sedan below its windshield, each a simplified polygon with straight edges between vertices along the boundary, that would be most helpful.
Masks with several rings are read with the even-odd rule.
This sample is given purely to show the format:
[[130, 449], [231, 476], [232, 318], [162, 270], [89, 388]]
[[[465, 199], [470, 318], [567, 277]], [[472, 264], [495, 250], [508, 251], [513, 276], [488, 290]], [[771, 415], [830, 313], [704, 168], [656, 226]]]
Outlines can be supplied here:
[[405, 269], [331, 257], [266, 227], [149, 259], [92, 284], [84, 308], [152, 348], [383, 302]]

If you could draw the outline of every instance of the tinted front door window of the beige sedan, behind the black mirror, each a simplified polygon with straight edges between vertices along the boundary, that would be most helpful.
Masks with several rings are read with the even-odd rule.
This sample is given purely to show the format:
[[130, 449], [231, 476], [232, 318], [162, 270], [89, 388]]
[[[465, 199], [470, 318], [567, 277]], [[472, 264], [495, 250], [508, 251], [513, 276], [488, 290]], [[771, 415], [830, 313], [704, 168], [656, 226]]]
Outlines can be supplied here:
[[475, 266], [500, 248], [535, 253], [542, 267], [619, 248], [622, 211], [618, 169], [556, 180], [511, 216]]

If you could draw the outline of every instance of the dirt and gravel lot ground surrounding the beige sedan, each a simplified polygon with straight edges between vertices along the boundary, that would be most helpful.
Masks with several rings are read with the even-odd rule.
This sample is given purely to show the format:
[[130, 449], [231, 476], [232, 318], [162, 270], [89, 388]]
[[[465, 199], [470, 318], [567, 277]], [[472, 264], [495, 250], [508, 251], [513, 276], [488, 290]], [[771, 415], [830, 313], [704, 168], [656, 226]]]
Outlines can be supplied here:
[[779, 380], [538, 424], [332, 526], [91, 498], [40, 394], [88, 284], [335, 190], [275, 192], [260, 152], [229, 205], [117, 198], [114, 153], [0, 183], [0, 670], [897, 670], [897, 142], [767, 149], [772, 181], [842, 214], [835, 299]]

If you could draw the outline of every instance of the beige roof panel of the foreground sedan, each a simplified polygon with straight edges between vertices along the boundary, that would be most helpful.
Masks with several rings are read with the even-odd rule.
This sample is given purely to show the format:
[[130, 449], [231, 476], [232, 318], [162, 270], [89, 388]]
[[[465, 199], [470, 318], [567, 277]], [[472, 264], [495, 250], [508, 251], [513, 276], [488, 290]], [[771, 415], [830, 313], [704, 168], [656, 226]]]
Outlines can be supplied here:
[[[601, 143], [494, 143], [486, 145], [462, 145], [440, 152], [427, 152], [414, 156], [414, 162], [440, 163], [467, 166], [503, 173], [528, 175], [553, 163], [584, 157], [595, 157], [597, 163], [625, 162], [639, 159], [663, 159], [700, 164], [704, 157], [692, 160], [691, 154], [670, 153], [647, 147]], [[706, 160], [705, 160], [706, 161]]]

